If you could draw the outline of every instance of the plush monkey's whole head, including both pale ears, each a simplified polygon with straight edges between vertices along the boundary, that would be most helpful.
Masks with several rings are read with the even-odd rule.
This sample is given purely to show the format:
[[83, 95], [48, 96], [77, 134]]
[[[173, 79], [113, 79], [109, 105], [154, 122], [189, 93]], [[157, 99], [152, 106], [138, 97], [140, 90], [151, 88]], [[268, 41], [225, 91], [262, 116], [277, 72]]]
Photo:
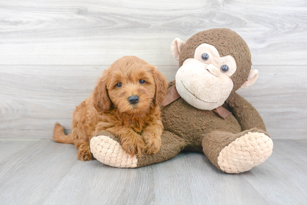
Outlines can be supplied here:
[[212, 110], [224, 104], [229, 95], [253, 85], [258, 70], [251, 70], [251, 54], [236, 32], [213, 28], [184, 41], [175, 38], [171, 53], [179, 60], [176, 88], [190, 105]]

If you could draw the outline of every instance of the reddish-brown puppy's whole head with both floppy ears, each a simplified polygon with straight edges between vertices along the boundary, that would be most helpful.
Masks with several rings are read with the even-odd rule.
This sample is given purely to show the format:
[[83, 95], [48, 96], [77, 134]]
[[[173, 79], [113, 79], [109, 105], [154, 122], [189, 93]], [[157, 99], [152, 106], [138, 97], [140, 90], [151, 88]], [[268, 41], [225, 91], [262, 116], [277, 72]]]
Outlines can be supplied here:
[[135, 56], [124, 56], [105, 70], [93, 92], [97, 110], [107, 111], [115, 105], [118, 111], [137, 114], [151, 105], [160, 106], [167, 80], [158, 69]]

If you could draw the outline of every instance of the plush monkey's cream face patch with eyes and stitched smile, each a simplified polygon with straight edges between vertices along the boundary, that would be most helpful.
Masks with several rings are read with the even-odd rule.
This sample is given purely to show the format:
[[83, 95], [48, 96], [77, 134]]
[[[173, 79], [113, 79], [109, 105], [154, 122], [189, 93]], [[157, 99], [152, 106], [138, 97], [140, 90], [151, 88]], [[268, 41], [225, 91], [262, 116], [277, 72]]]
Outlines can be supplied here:
[[186, 59], [176, 73], [176, 89], [190, 105], [213, 110], [224, 104], [233, 89], [230, 76], [237, 70], [235, 59], [220, 57], [217, 49], [200, 44], [194, 58]]

